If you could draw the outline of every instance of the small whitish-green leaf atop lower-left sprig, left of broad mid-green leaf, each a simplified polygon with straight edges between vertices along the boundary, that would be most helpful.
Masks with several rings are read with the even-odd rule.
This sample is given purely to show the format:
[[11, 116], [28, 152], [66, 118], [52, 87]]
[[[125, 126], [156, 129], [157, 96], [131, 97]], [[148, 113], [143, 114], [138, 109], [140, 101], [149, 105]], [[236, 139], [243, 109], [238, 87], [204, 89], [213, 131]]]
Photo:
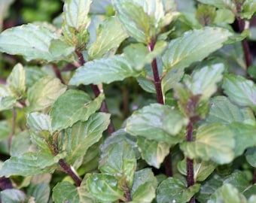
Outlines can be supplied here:
[[26, 125], [33, 132], [48, 131], [53, 133], [51, 129], [51, 119], [47, 114], [40, 112], [32, 112], [26, 117]]

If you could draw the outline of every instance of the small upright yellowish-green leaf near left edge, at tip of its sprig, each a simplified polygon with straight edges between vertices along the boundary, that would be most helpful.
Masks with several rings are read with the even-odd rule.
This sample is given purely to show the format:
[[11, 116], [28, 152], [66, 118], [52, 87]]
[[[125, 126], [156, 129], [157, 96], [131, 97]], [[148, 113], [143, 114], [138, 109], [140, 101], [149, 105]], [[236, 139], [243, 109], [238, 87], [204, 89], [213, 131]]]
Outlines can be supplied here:
[[11, 92], [16, 96], [16, 98], [20, 98], [25, 90], [26, 90], [26, 74], [23, 65], [18, 63], [14, 66], [11, 74], [7, 79], [7, 85], [11, 89]]

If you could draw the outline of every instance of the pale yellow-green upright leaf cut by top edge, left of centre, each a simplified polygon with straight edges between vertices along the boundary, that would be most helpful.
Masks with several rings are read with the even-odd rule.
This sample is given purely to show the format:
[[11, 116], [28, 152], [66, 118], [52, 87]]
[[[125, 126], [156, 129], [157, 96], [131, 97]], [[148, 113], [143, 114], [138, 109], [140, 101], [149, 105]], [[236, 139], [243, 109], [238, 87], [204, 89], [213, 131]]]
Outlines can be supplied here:
[[87, 29], [90, 23], [88, 13], [91, 3], [92, 0], [67, 0], [63, 8], [66, 25], [76, 30], [81, 27]]

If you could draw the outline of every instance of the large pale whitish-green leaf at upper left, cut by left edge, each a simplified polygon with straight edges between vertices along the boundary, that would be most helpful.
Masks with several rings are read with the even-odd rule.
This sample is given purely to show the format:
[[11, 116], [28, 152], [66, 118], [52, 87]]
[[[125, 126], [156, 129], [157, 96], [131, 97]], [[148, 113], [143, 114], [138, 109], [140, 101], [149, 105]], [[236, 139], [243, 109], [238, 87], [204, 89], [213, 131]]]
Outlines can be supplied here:
[[56, 39], [54, 32], [45, 26], [27, 24], [6, 29], [0, 35], [0, 51], [22, 55], [26, 60], [41, 59], [54, 61], [50, 53], [50, 41]]

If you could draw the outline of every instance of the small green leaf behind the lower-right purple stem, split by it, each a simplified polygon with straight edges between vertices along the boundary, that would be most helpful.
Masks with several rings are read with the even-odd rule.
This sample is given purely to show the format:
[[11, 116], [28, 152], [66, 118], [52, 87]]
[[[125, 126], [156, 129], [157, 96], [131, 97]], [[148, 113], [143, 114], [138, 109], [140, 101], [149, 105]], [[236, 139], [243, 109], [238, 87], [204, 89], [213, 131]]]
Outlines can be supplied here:
[[[200, 161], [194, 159], [194, 180], [203, 181], [212, 174], [212, 171], [215, 170], [217, 164], [212, 161]], [[178, 171], [181, 174], [187, 175], [187, 159], [183, 159], [181, 162], [178, 162]]]

